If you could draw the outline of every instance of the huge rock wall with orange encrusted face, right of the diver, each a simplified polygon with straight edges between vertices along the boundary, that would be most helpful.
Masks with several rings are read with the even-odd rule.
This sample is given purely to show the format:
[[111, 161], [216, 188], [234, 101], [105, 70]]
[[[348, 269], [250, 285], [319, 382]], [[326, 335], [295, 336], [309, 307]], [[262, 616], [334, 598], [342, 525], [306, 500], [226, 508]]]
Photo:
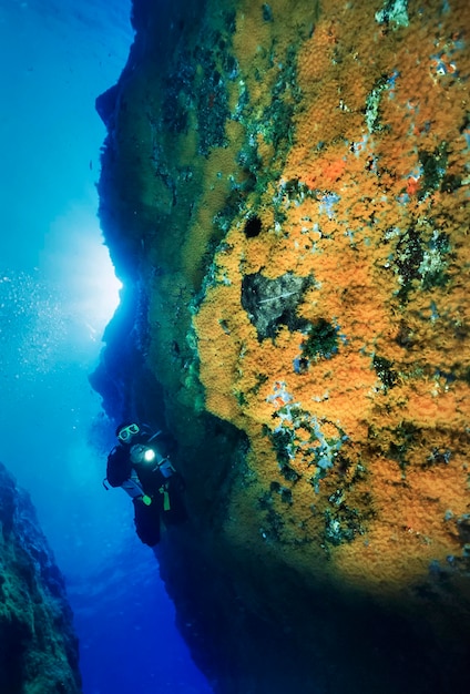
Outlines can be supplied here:
[[95, 375], [174, 438], [181, 629], [222, 694], [463, 692], [469, 4], [185, 4], [98, 100]]

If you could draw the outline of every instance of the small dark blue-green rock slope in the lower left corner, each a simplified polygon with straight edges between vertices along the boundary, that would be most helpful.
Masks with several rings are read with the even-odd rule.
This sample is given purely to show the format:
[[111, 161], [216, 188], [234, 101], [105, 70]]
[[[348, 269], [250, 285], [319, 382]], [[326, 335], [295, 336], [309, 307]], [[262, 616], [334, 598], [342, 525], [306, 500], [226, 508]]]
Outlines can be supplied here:
[[80, 694], [63, 578], [29, 496], [0, 463], [0, 692]]

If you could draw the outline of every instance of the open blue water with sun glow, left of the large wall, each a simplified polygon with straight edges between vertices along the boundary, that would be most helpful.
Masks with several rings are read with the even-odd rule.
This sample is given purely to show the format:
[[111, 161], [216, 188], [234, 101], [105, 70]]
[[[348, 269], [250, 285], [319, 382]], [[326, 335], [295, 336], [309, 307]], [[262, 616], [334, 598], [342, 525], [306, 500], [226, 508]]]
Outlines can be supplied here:
[[101, 484], [112, 439], [86, 378], [120, 288], [94, 99], [124, 67], [129, 14], [127, 0], [0, 0], [0, 459], [65, 575], [84, 694], [210, 694], [129, 499]]

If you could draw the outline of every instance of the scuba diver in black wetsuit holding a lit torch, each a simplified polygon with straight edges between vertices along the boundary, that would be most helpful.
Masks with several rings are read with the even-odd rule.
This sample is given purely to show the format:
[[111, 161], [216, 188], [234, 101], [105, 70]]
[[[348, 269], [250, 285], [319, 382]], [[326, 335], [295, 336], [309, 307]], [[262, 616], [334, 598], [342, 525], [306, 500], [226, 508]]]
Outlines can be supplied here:
[[161, 519], [166, 525], [186, 520], [182, 500], [184, 483], [168, 457], [156, 446], [157, 431], [146, 425], [122, 423], [117, 445], [108, 456], [106, 480], [122, 487], [134, 504], [134, 523], [140, 540], [149, 547], [160, 541]]

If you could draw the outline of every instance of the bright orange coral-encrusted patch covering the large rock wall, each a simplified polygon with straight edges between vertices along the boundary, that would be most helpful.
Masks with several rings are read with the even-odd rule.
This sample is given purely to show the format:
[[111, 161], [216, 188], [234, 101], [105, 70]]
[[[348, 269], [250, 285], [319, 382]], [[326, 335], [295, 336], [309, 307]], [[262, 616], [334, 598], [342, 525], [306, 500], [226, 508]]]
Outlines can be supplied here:
[[[235, 217], [194, 317], [206, 407], [252, 446], [256, 482], [232, 503], [253, 527], [227, 532], [279, 542], [292, 565], [320, 564], [377, 594], [468, 555], [456, 519], [470, 509], [470, 12], [440, 6], [410, 3], [408, 27], [380, 24], [379, 3], [323, 7], [298, 50], [294, 141], [252, 200], [262, 233], [247, 238]], [[242, 3], [234, 38], [255, 103], [269, 99], [248, 58], [272, 27], [245, 31], [259, 9]], [[297, 12], [306, 22], [307, 3]], [[259, 339], [244, 277], [289, 272], [310, 287]], [[287, 295], [254, 299], [263, 310]], [[330, 326], [328, 354], [318, 322]], [[273, 484], [288, 489], [282, 531], [258, 506]]]

